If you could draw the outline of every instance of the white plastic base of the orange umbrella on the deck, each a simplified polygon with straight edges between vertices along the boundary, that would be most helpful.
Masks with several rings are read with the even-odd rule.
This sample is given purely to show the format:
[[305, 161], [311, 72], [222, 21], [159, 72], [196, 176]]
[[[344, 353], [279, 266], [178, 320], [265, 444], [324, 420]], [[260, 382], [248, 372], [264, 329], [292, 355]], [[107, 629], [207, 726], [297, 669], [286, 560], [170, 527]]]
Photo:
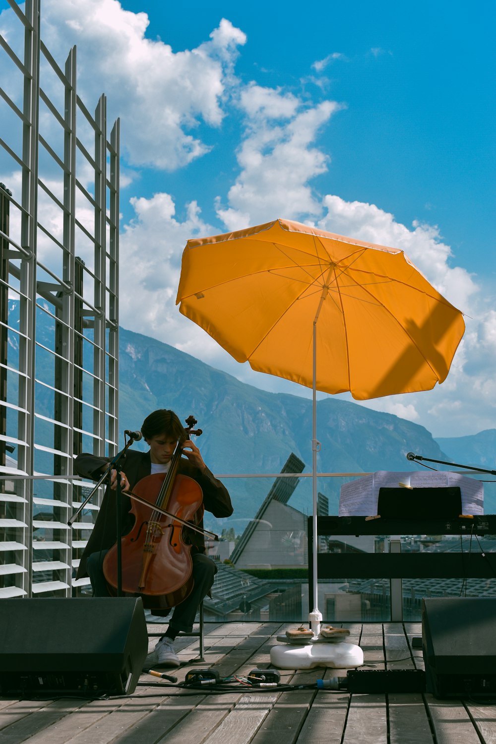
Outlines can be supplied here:
[[271, 648], [271, 664], [279, 669], [361, 667], [364, 652], [355, 644], [280, 644]]

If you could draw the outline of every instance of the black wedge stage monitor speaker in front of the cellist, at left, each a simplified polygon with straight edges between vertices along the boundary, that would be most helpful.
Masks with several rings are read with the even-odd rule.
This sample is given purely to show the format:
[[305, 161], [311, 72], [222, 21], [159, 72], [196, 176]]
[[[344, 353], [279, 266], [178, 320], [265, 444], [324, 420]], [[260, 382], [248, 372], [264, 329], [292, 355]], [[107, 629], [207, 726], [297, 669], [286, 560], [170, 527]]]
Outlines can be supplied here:
[[0, 692], [131, 694], [148, 635], [140, 597], [0, 600]]

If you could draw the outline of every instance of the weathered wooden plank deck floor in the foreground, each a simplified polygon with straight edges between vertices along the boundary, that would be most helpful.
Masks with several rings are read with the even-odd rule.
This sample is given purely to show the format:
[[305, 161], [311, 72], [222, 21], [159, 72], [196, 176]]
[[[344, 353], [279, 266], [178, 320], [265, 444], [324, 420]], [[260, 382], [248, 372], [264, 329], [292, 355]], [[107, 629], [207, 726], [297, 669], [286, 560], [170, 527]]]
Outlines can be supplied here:
[[[221, 677], [270, 666], [280, 623], [207, 623], [202, 667]], [[367, 668], [422, 668], [411, 648], [420, 623], [345, 624], [364, 650]], [[151, 626], [160, 631], [163, 626]], [[155, 643], [150, 639], [150, 647]], [[198, 654], [197, 638], [176, 641], [181, 660]], [[175, 672], [184, 680], [188, 664]], [[167, 670], [166, 670], [167, 671]], [[281, 682], [308, 684], [346, 676], [346, 670], [281, 671]], [[0, 742], [17, 744], [493, 744], [496, 705], [439, 701], [421, 693], [348, 694], [325, 690], [207, 695], [148, 686], [141, 676], [132, 696], [87, 702], [0, 699]]]

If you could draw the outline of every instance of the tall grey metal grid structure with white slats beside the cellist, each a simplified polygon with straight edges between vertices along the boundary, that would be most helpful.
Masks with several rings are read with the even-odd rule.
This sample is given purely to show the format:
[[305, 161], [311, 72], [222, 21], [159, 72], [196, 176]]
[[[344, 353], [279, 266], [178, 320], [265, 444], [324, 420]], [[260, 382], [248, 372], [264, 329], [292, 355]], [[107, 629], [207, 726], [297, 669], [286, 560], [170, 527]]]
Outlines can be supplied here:
[[0, 597], [74, 596], [98, 506], [68, 527], [73, 455], [118, 442], [119, 121], [108, 141], [106, 97], [91, 115], [40, 0], [8, 2], [24, 45], [0, 36]]

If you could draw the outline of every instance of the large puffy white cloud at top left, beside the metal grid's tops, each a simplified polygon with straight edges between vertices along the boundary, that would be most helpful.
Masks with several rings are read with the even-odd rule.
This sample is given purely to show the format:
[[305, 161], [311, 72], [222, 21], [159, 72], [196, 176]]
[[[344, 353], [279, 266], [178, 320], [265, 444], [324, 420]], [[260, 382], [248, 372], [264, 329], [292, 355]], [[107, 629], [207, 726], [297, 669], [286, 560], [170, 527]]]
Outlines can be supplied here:
[[[77, 44], [78, 93], [90, 110], [102, 92], [109, 95], [109, 121], [122, 118], [129, 163], [174, 170], [209, 150], [192, 132], [202, 123], [221, 124], [246, 37], [222, 19], [208, 41], [174, 53], [160, 39], [147, 39], [147, 26], [146, 13], [123, 10], [117, 0], [42, 3], [45, 44], [62, 68]], [[1, 14], [1, 28], [7, 38], [21, 33], [12, 11]], [[56, 80], [53, 86], [60, 87]]]

